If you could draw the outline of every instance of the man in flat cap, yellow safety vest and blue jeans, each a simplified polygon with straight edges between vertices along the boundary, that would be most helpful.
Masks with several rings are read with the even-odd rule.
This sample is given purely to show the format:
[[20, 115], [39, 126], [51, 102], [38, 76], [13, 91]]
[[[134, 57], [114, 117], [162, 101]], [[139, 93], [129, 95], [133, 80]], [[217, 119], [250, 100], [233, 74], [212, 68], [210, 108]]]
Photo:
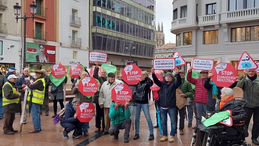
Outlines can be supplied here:
[[30, 83], [28, 78], [25, 78], [26, 85], [31, 89], [27, 100], [32, 103], [32, 122], [34, 129], [29, 131], [29, 133], [38, 133], [41, 131], [41, 121], [40, 121], [40, 105], [43, 104], [45, 95], [45, 80], [43, 78], [43, 71], [34, 71], [36, 75], [36, 80], [33, 84]]

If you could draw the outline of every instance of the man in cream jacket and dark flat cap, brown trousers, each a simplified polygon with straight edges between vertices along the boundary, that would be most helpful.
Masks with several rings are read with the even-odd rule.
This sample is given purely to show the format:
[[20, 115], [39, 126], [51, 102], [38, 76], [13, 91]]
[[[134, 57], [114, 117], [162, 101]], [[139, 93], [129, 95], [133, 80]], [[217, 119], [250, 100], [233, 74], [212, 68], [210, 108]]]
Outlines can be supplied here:
[[104, 121], [105, 121], [105, 128], [103, 135], [109, 134], [109, 128], [111, 119], [109, 118], [109, 112], [110, 112], [110, 106], [112, 103], [112, 88], [114, 88], [117, 84], [121, 84], [117, 81], [115, 81], [115, 74], [114, 73], [108, 73], [107, 81], [105, 81], [100, 89], [99, 92], [99, 106], [100, 108], [104, 109]]

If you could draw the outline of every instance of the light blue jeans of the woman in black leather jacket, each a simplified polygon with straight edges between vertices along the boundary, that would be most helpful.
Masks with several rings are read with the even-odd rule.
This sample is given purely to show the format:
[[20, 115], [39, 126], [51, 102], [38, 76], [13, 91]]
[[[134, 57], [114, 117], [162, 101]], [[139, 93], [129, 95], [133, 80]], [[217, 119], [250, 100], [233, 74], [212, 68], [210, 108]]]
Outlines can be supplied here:
[[137, 104], [137, 111], [136, 111], [136, 119], [135, 119], [135, 130], [136, 130], [136, 134], [138, 134], [139, 132], [139, 120], [140, 120], [140, 112], [141, 112], [141, 108], [144, 112], [144, 115], [146, 117], [147, 120], [147, 125], [149, 128], [149, 134], [153, 134], [154, 131], [154, 127], [153, 127], [153, 123], [150, 117], [150, 113], [149, 113], [149, 106], [148, 104]]

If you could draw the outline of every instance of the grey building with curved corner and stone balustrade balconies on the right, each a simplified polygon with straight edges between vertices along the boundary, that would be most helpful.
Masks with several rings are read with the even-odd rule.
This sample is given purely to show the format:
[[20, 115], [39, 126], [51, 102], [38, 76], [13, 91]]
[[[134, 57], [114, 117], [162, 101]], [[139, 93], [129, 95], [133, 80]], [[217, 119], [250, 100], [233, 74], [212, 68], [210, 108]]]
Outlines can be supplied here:
[[208, 58], [236, 67], [244, 51], [259, 60], [258, 20], [259, 0], [173, 0], [171, 33], [186, 62]]

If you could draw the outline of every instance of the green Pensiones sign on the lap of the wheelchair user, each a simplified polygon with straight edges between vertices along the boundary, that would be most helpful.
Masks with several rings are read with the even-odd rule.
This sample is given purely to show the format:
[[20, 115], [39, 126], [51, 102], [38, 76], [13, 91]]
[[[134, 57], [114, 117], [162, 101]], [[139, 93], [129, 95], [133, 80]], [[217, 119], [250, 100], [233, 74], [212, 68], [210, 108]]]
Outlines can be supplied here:
[[229, 118], [230, 113], [229, 112], [219, 112], [213, 114], [209, 119], [203, 122], [203, 125], [206, 127], [209, 127], [211, 125], [215, 125], [216, 123], [219, 123], [222, 120], [225, 120]]

